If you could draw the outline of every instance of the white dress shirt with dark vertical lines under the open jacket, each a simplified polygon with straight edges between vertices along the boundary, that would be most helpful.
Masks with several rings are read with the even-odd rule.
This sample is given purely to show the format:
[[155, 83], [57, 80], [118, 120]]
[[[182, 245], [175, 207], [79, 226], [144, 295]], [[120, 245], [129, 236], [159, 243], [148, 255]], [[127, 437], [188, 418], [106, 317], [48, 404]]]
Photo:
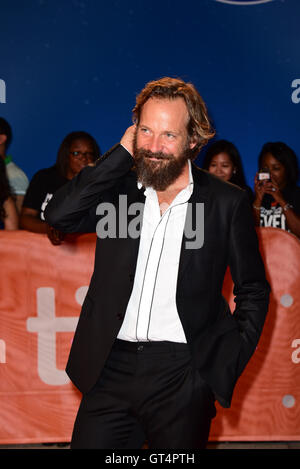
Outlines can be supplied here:
[[145, 207], [133, 290], [118, 338], [127, 341], [186, 343], [176, 306], [178, 266], [188, 200], [189, 183], [161, 216], [156, 191], [145, 190]]

